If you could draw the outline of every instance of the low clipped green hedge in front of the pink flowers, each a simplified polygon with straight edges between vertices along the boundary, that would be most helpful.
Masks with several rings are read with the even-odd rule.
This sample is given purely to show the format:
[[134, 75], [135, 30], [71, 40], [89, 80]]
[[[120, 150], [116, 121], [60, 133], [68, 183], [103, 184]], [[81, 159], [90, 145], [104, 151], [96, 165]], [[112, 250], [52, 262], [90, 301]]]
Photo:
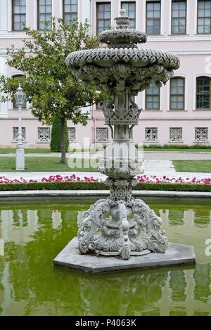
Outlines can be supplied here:
[[[103, 182], [1, 183], [0, 191], [24, 190], [109, 190]], [[138, 183], [134, 190], [211, 192], [211, 185], [200, 183]]]

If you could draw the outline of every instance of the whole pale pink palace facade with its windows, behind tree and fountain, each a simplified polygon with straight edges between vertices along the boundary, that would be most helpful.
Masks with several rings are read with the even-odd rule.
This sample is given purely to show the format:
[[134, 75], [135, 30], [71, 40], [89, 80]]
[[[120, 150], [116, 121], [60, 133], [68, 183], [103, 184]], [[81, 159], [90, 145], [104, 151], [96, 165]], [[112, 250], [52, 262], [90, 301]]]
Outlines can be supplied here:
[[[96, 34], [114, 24], [124, 7], [132, 18], [131, 27], [148, 34], [144, 48], [175, 53], [181, 60], [174, 77], [158, 88], [152, 85], [136, 97], [142, 110], [134, 128], [135, 143], [146, 145], [210, 145], [211, 143], [211, 0], [1, 0], [0, 74], [23, 74], [6, 65], [6, 48], [17, 48], [25, 38], [23, 22], [43, 29], [52, 16], [64, 20], [89, 20]], [[68, 121], [72, 146], [106, 144], [110, 130], [104, 125], [100, 105], [89, 109], [87, 126]], [[0, 147], [11, 147], [18, 136], [15, 104], [0, 103]], [[23, 110], [25, 147], [46, 147], [51, 127], [42, 126], [26, 103]]]

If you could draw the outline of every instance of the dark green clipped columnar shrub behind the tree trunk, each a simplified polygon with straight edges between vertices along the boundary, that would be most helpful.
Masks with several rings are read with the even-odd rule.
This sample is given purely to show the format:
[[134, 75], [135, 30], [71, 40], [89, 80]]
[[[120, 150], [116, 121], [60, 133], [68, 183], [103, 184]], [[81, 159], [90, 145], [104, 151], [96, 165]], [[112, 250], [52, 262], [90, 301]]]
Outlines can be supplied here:
[[[51, 130], [51, 151], [60, 152], [60, 140], [61, 140], [61, 131], [60, 131], [60, 118], [55, 118], [53, 121], [53, 126]], [[68, 126], [67, 121], [65, 121], [65, 151], [68, 151], [69, 139], [68, 139]]]

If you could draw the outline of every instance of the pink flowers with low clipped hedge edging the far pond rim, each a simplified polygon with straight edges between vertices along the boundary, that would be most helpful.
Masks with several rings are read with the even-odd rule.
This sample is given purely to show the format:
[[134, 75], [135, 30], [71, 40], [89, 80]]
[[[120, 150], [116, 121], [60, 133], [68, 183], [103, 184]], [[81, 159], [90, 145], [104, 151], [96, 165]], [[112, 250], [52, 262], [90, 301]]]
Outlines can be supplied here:
[[[211, 178], [167, 178], [163, 176], [138, 176], [134, 190], [211, 192]], [[72, 176], [50, 176], [41, 180], [11, 180], [0, 176], [0, 191], [21, 190], [109, 190], [103, 180], [93, 177], [79, 178]]]

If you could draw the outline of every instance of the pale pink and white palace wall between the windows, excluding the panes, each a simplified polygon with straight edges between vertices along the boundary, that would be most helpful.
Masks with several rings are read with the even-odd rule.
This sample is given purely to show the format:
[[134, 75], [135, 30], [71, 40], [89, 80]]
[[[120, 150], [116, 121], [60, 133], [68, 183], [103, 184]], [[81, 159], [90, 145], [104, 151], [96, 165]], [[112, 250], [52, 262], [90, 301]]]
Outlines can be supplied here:
[[[106, 0], [78, 0], [79, 20], [89, 18], [91, 32], [96, 32], [96, 1]], [[134, 0], [132, 0], [134, 1]], [[26, 0], [27, 24], [37, 28], [37, 1]], [[111, 22], [120, 11], [120, 1], [111, 0]], [[211, 143], [211, 109], [196, 110], [196, 77], [206, 75], [211, 77], [211, 34], [196, 34], [197, 27], [197, 0], [187, 0], [187, 31], [185, 35], [171, 35], [171, 0], [161, 0], [161, 34], [148, 36], [144, 48], [154, 48], [161, 51], [170, 51], [179, 55], [181, 66], [175, 75], [185, 78], [185, 110], [170, 111], [170, 84], [161, 88], [160, 110], [144, 110], [145, 93], [140, 93], [136, 98], [139, 107], [143, 108], [139, 120], [139, 126], [134, 128], [134, 141], [145, 140], [145, 128], [158, 128], [158, 142], [167, 144], [170, 140], [170, 127], [183, 128], [183, 143], [192, 145], [195, 138], [195, 128], [208, 128], [207, 144]], [[20, 47], [22, 45], [23, 32], [11, 31], [11, 0], [0, 1], [0, 73], [15, 74], [13, 68], [5, 66], [6, 47], [11, 44]], [[62, 15], [62, 0], [53, 0], [53, 15]], [[136, 0], [136, 28], [145, 31], [146, 26], [146, 0]], [[0, 146], [11, 145], [13, 126], [18, 125], [16, 110], [11, 110], [11, 103], [0, 104]], [[103, 114], [100, 110], [94, 110], [94, 119], [89, 119], [87, 126], [76, 126], [76, 141], [82, 143], [84, 137], [93, 143], [96, 140], [96, 127], [106, 127]], [[43, 147], [37, 143], [37, 127], [41, 124], [32, 117], [32, 114], [23, 111], [23, 126], [27, 129], [27, 147]], [[71, 122], [69, 127], [73, 127]], [[95, 134], [95, 138], [94, 138]], [[109, 133], [110, 134], [110, 133]], [[109, 136], [110, 137], [110, 136]], [[155, 144], [155, 143], [154, 143]], [[178, 143], [176, 143], [178, 144]]]

